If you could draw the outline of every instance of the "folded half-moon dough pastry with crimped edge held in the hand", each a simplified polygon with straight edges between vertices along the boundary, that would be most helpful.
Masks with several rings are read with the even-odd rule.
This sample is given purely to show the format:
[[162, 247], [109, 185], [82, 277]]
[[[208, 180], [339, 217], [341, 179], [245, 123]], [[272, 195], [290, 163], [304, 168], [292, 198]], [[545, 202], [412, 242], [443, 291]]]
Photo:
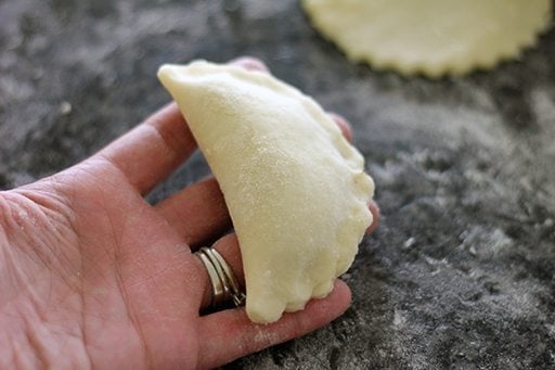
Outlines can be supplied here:
[[193, 62], [158, 72], [220, 183], [255, 322], [327, 295], [372, 221], [362, 155], [310, 98], [271, 75]]

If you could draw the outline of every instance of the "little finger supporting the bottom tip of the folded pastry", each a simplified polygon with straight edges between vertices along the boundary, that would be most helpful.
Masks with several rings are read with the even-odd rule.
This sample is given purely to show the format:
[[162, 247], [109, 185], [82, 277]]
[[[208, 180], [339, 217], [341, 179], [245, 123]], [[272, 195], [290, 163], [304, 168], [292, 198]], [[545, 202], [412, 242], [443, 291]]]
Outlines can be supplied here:
[[244, 308], [202, 317], [198, 330], [201, 368], [216, 368], [238, 357], [305, 335], [345, 312], [350, 299], [351, 293], [347, 284], [336, 280], [335, 288], [327, 297], [309, 302], [300, 311], [284, 314], [274, 323], [253, 323]]

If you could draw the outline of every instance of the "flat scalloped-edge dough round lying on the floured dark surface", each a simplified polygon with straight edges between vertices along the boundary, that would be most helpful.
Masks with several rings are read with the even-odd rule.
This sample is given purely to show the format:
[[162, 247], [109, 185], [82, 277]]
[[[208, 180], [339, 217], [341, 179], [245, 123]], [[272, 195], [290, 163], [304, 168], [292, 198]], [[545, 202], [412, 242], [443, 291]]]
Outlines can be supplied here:
[[551, 0], [302, 0], [356, 62], [429, 77], [490, 68], [534, 44]]

